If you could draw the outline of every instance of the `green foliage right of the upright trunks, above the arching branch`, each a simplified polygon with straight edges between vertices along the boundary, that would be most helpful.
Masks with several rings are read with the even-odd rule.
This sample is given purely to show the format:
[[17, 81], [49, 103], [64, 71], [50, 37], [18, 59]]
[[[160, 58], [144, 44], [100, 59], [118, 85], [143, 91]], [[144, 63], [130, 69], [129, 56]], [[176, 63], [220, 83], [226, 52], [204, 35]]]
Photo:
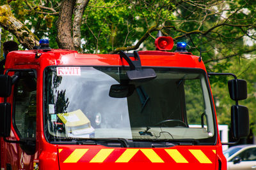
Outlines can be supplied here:
[[171, 9], [169, 1], [90, 1], [81, 27], [86, 39], [83, 48], [88, 53], [108, 53], [131, 46], [150, 26], [172, 20]]

